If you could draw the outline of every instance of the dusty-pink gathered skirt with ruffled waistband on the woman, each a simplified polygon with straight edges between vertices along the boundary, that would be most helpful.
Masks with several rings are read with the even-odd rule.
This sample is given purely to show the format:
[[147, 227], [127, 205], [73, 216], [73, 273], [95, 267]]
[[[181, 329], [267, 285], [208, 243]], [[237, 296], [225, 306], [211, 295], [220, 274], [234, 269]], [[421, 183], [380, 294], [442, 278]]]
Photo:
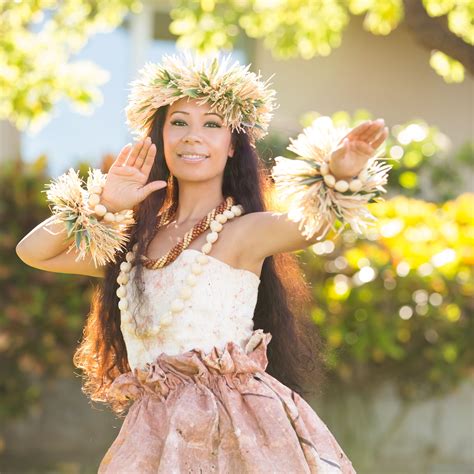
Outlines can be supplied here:
[[270, 333], [246, 349], [162, 353], [115, 379], [109, 398], [131, 399], [100, 466], [104, 473], [355, 473], [313, 409], [265, 372]]

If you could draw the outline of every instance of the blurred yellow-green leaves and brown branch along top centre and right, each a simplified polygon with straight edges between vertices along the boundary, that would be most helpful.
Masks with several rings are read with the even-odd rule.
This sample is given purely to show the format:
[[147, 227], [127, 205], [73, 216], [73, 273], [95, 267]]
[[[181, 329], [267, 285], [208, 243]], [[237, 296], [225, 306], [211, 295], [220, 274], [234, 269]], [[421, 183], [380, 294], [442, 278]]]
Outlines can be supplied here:
[[404, 20], [446, 82], [462, 82], [464, 68], [474, 73], [469, 0], [175, 0], [170, 30], [178, 44], [200, 51], [232, 48], [243, 31], [278, 59], [311, 59], [340, 46], [351, 14], [365, 14], [364, 28], [374, 35]]

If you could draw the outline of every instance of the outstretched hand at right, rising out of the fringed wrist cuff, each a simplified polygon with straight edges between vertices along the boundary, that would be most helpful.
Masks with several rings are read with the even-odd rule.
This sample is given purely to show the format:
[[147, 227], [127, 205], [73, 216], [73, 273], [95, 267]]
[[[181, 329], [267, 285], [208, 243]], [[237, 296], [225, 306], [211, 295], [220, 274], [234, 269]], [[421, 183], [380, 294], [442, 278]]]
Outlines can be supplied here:
[[388, 137], [388, 127], [383, 119], [367, 120], [354, 127], [339, 142], [340, 147], [333, 151], [329, 171], [339, 179], [357, 176], [371, 158], [375, 150]]

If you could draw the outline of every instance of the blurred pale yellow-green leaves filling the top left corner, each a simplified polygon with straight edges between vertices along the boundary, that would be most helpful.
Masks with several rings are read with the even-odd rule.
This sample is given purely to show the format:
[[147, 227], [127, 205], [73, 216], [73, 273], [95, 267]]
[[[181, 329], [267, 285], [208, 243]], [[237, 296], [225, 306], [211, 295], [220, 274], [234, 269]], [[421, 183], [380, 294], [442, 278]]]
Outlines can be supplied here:
[[0, 120], [39, 128], [62, 98], [78, 109], [100, 100], [98, 86], [108, 74], [73, 55], [140, 6], [138, 0], [1, 0]]

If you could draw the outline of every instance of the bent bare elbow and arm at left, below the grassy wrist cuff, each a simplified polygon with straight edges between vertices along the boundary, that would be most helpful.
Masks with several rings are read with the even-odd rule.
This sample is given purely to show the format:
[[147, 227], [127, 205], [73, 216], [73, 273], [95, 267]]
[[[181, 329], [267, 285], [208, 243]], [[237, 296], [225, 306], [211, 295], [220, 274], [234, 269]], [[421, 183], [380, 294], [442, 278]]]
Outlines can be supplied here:
[[77, 253], [66, 253], [72, 239], [66, 239], [64, 223], [53, 224], [54, 216], [38, 224], [18, 242], [16, 253], [30, 267], [56, 273], [103, 277], [104, 268], [96, 268], [92, 258], [75, 261]]

